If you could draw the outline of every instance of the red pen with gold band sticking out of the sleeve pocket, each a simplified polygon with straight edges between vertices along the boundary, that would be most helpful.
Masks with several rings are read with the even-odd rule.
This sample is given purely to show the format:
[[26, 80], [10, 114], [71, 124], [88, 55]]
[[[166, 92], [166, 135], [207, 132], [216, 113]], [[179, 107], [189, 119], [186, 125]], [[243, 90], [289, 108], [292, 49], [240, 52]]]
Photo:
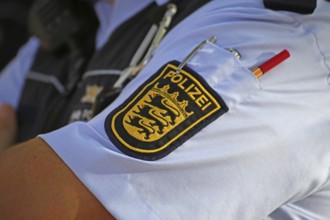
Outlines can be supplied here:
[[259, 65], [257, 68], [252, 70], [252, 73], [258, 78], [264, 75], [269, 70], [273, 69], [278, 64], [282, 63], [284, 60], [290, 57], [290, 53], [287, 50], [282, 50], [280, 53], [276, 54], [263, 64]]

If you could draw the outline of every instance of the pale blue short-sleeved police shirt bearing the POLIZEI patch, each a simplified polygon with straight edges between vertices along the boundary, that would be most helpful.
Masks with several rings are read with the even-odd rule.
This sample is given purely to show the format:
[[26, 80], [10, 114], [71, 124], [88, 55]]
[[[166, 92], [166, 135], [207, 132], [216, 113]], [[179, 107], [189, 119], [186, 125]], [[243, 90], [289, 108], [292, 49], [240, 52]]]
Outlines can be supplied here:
[[[328, 219], [329, 9], [321, 0], [312, 15], [267, 10], [261, 0], [211, 1], [167, 34], [102, 113], [41, 137], [118, 219]], [[176, 74], [211, 36], [218, 41]], [[283, 49], [288, 60], [251, 73]], [[159, 94], [185, 115], [163, 130], [170, 144], [125, 144], [129, 135], [161, 136], [161, 124], [141, 113]], [[151, 128], [132, 126], [138, 117], [136, 126]], [[134, 132], [122, 135], [125, 128]]]

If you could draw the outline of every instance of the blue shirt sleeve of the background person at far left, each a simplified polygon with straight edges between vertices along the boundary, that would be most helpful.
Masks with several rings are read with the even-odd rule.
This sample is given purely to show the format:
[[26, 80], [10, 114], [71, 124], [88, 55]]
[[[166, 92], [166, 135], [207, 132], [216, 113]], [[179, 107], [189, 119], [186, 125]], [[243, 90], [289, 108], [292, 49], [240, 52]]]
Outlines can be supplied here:
[[0, 103], [17, 107], [25, 76], [32, 65], [39, 42], [32, 37], [0, 74]]

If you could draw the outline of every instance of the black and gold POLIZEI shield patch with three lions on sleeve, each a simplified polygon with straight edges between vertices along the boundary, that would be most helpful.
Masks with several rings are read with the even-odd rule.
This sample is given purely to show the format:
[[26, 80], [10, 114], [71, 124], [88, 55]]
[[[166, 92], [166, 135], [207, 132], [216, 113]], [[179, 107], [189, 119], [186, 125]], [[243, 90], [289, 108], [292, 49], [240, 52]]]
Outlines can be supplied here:
[[188, 67], [164, 65], [105, 122], [111, 141], [123, 153], [157, 160], [175, 150], [228, 111], [222, 98]]

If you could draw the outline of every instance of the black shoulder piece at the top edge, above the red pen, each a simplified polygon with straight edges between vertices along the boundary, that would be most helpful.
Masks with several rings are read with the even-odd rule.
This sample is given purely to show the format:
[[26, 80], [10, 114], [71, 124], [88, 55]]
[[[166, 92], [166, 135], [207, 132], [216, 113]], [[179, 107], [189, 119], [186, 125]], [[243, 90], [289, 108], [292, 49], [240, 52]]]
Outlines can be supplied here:
[[264, 5], [273, 10], [312, 14], [316, 8], [316, 0], [264, 0]]

